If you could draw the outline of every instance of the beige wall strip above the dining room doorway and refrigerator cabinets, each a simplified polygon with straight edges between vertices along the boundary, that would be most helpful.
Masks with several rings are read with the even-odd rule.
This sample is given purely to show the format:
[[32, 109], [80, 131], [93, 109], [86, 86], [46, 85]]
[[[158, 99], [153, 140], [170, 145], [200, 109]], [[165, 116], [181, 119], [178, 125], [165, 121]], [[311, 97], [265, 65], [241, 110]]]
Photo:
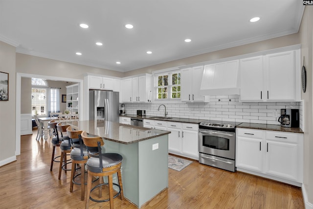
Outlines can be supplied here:
[[16, 53], [16, 71], [62, 78], [83, 79], [89, 73], [123, 77], [123, 72], [93, 68], [84, 65]]

